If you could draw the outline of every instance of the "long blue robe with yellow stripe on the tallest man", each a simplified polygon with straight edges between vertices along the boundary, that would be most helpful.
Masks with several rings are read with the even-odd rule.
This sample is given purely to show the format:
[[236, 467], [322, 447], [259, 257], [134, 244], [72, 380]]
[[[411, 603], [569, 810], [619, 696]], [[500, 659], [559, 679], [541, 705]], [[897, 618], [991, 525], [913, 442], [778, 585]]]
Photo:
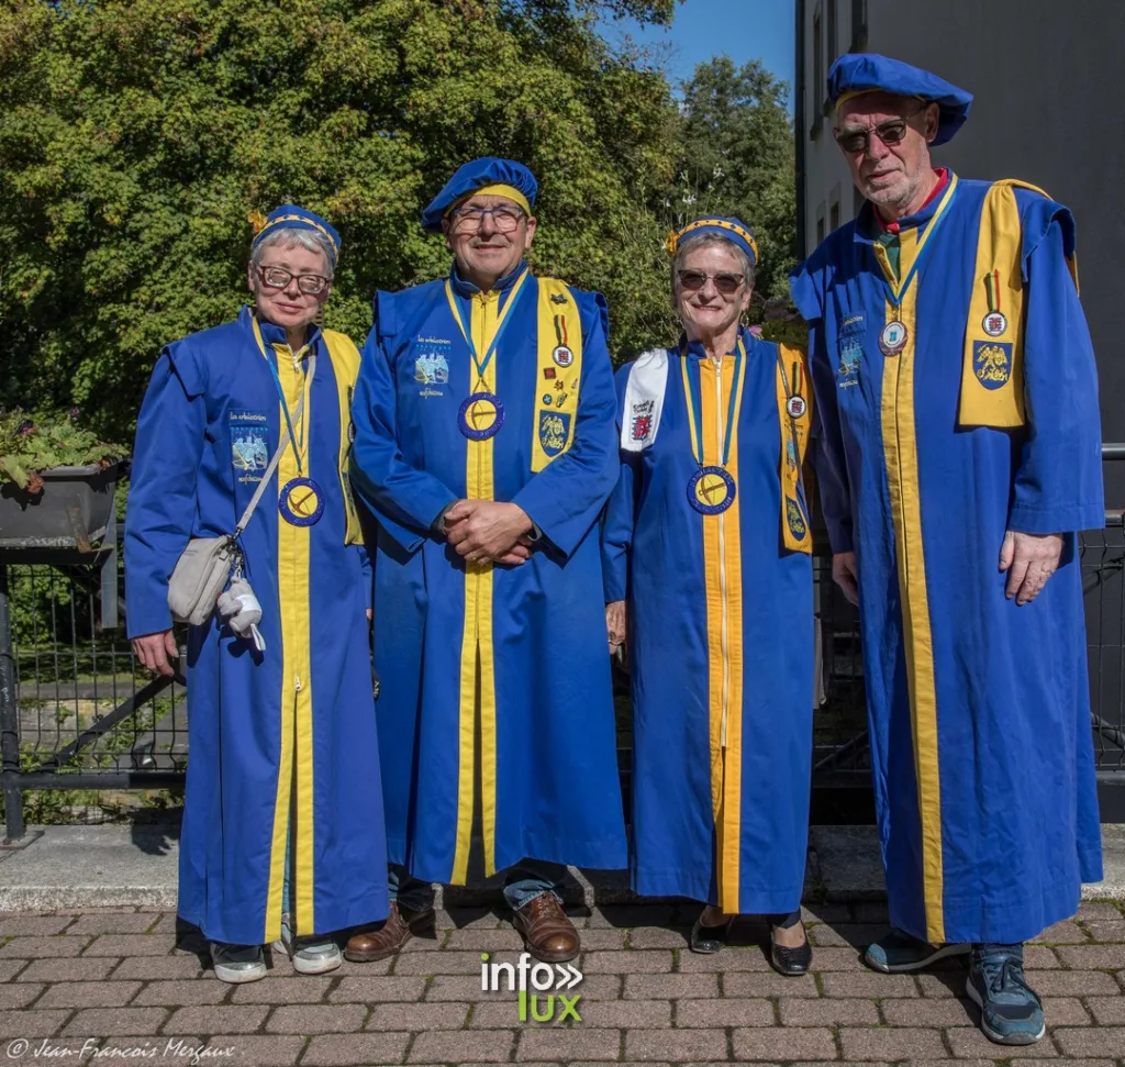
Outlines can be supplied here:
[[[1076, 553], [1076, 531], [1104, 521], [1097, 384], [1065, 262], [1073, 219], [1020, 189], [1026, 425], [958, 420], [989, 186], [951, 182], [900, 219], [899, 279], [917, 272], [899, 308], [870, 205], [792, 288], [834, 470], [821, 477], [829, 538], [858, 564], [891, 921], [933, 942], [1010, 943], [1073, 914], [1081, 881], [1101, 877]], [[884, 356], [892, 321], [906, 346]], [[1058, 572], [1025, 607], [999, 571], [1009, 529], [1064, 535]]]

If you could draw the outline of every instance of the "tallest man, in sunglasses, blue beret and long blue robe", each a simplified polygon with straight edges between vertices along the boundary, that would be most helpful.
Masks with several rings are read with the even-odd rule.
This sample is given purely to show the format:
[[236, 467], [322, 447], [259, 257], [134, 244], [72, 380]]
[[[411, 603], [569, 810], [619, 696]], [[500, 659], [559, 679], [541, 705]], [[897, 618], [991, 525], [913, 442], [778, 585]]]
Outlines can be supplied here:
[[792, 277], [810, 326], [832, 573], [860, 606], [894, 931], [971, 949], [993, 1041], [1044, 1033], [1022, 942], [1101, 877], [1077, 531], [1104, 519], [1074, 221], [935, 170], [971, 96], [880, 55], [829, 72], [858, 218]]

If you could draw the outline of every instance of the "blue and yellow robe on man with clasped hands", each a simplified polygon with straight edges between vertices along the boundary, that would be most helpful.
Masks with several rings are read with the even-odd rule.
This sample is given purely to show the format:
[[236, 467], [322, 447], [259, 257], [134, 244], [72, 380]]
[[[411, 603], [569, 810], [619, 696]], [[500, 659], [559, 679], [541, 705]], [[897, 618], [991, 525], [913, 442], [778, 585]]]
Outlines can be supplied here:
[[[522, 270], [488, 294], [452, 275], [482, 362]], [[467, 881], [475, 809], [487, 873], [524, 858], [626, 863], [596, 532], [618, 470], [605, 306], [556, 292], [559, 332], [547, 338], [541, 284], [525, 278], [483, 383], [444, 281], [379, 293], [363, 350], [352, 481], [379, 520], [387, 843], [392, 861], [428, 881]], [[580, 382], [570, 349], [550, 355], [579, 330]], [[469, 440], [458, 413], [482, 387], [505, 415], [494, 437]], [[576, 388], [573, 440], [559, 452], [539, 407]], [[536, 473], [544, 447], [556, 455]], [[542, 531], [531, 559], [466, 567], [434, 531], [466, 497], [519, 504]]]

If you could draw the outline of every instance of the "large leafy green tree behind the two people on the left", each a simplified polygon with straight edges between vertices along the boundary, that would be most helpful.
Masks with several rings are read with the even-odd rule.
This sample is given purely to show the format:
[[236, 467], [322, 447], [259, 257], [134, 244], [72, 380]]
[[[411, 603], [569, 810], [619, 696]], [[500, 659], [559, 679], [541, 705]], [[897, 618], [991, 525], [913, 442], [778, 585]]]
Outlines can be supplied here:
[[602, 289], [642, 340], [651, 278], [620, 228], [672, 173], [664, 77], [597, 18], [673, 0], [8, 0], [0, 10], [0, 404], [78, 404], [127, 436], [160, 347], [231, 317], [248, 215], [325, 213], [327, 323], [442, 274], [421, 208], [461, 162], [540, 177], [536, 266]]

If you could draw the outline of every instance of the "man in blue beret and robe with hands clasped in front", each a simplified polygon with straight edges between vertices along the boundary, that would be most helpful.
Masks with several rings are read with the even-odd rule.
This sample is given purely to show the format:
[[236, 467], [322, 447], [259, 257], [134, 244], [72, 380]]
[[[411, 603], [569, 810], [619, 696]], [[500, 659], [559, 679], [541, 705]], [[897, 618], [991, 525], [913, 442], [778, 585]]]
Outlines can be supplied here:
[[466, 163], [422, 216], [449, 278], [375, 299], [352, 478], [379, 520], [393, 902], [353, 960], [432, 918], [430, 882], [505, 868], [528, 950], [573, 959], [562, 864], [626, 864], [595, 529], [618, 477], [605, 301], [528, 270], [536, 191], [519, 163]]

